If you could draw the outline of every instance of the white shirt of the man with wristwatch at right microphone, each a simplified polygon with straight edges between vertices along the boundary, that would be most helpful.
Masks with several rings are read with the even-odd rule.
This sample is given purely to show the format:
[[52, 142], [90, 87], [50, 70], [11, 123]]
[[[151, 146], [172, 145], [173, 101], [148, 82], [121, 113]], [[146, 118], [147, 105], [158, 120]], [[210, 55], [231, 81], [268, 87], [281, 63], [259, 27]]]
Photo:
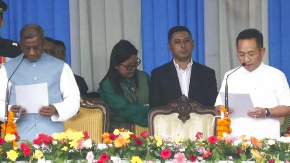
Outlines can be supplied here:
[[[225, 73], [219, 92], [224, 92], [226, 77], [233, 70]], [[228, 77], [228, 92], [248, 93], [254, 107], [290, 106], [290, 90], [285, 74], [274, 67], [265, 65], [263, 62], [252, 72], [242, 67], [232, 73]], [[224, 105], [222, 98], [224, 97], [217, 96], [215, 106]], [[234, 108], [232, 109], [234, 110]], [[248, 110], [250, 109], [253, 108]], [[247, 135], [259, 139], [280, 137], [279, 118], [232, 118], [231, 127], [232, 135], [236, 136]]]

